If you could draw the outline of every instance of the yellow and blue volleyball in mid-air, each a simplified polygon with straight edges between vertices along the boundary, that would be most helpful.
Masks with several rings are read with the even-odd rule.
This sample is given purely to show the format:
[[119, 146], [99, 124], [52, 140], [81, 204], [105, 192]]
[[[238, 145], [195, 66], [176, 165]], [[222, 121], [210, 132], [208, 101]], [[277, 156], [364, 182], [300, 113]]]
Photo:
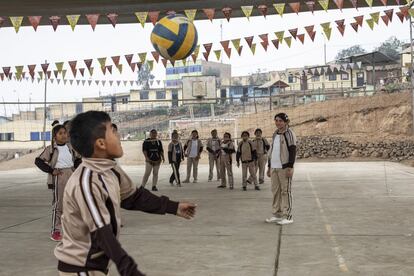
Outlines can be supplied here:
[[162, 18], [151, 33], [151, 43], [155, 50], [169, 60], [189, 57], [197, 46], [197, 40], [194, 24], [181, 14]]

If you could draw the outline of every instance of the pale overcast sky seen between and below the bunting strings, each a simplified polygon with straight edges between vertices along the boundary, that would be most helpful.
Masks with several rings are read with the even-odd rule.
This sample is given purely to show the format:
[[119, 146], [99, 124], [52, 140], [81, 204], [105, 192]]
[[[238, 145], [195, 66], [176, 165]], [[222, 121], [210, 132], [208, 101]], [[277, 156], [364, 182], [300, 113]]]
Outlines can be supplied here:
[[[396, 8], [396, 7], [387, 7]], [[320, 23], [333, 22], [338, 19], [345, 19], [345, 23], [354, 22], [353, 17], [357, 15], [366, 15], [369, 18], [369, 13], [374, 11], [383, 11], [387, 9], [382, 8], [364, 8], [348, 9], [340, 11], [318, 11], [314, 15], [310, 12], [296, 14], [287, 14], [283, 17], [278, 15], [263, 17], [252, 17], [250, 21], [246, 18], [231, 19], [230, 23], [225, 20], [198, 21], [196, 27], [199, 33], [199, 43], [213, 42], [213, 50], [219, 49], [221, 40], [220, 24], [223, 26], [223, 39], [233, 39], [238, 37], [246, 37], [250, 35], [259, 35], [262, 33], [271, 33], [270, 39], [274, 39], [274, 32], [287, 30], [299, 27], [299, 33], [304, 33], [304, 26], [316, 25], [316, 39], [311, 42], [308, 35], [305, 35], [305, 45], [299, 41], [293, 41], [292, 47], [288, 48], [283, 44], [279, 50], [275, 50], [273, 45], [269, 46], [266, 53], [261, 45], [257, 45], [256, 55], [253, 56], [250, 49], [245, 45], [241, 57], [237, 56], [235, 52], [231, 60], [223, 59], [225, 63], [232, 64], [232, 73], [234, 76], [247, 75], [257, 71], [257, 69], [271, 71], [280, 70], [290, 67], [302, 67], [305, 65], [323, 64], [323, 44], [324, 36]], [[383, 13], [381, 13], [382, 15]], [[363, 28], [355, 33], [355, 31], [347, 25], [345, 36], [342, 37], [336, 29], [336, 24], [332, 24], [333, 31], [330, 41], [327, 41], [327, 59], [332, 60], [336, 53], [343, 48], [360, 44], [365, 49], [372, 50], [377, 47], [382, 41], [388, 37], [395, 35], [400, 40], [409, 40], [409, 24], [405, 21], [404, 24], [394, 14], [393, 22], [388, 27], [380, 19], [379, 25], [375, 25], [374, 31], [371, 31], [368, 25], [364, 22]], [[152, 51], [150, 43], [150, 33], [152, 24], [146, 24], [143, 29], [140, 24], [123, 24], [117, 25], [114, 29], [111, 25], [98, 25], [95, 32], [92, 31], [88, 25], [77, 26], [75, 32], [72, 32], [69, 26], [59, 26], [56, 32], [53, 32], [51, 26], [41, 26], [37, 32], [32, 27], [22, 27], [18, 34], [12, 28], [1, 28], [0, 37], [2, 43], [0, 44], [0, 66], [12, 66], [14, 70], [15, 65], [40, 64], [44, 60], [53, 63], [52, 70], [55, 69], [54, 62], [78, 60], [82, 61], [86, 58], [110, 57], [115, 55], [136, 54], [139, 52]], [[258, 38], [255, 38], [256, 43], [260, 44]], [[224, 53], [223, 53], [224, 54]], [[201, 53], [200, 53], [201, 56]], [[210, 59], [215, 61], [215, 55], [212, 52]], [[124, 58], [121, 58], [122, 63], [126, 63]], [[134, 61], [136, 57], [134, 57]], [[109, 60], [109, 63], [112, 62]], [[67, 66], [67, 65], [65, 65]], [[81, 62], [78, 67], [84, 67]], [[98, 65], [96, 67], [96, 76], [94, 79], [107, 80], [135, 80], [136, 76], [131, 73], [128, 67], [124, 66], [122, 75], [116, 73], [112, 76], [103, 77], [99, 74]], [[25, 67], [25, 70], [27, 68]], [[40, 68], [36, 68], [40, 71]], [[69, 72], [67, 78], [72, 78]], [[79, 74], [79, 73], [78, 73]], [[160, 62], [156, 65], [154, 74], [156, 80], [165, 79], [165, 69]], [[74, 101], [81, 100], [82, 97], [91, 97], [101, 95], [128, 92], [131, 87], [121, 86], [120, 88], [97, 87], [96, 85], [77, 86], [66, 85], [63, 86], [52, 84], [48, 88], [48, 100], [50, 101]], [[136, 87], [134, 87], [136, 88]], [[44, 93], [44, 84], [38, 84], [37, 81], [31, 82], [0, 82], [1, 96], [5, 101], [42, 101]], [[0, 99], [2, 100], [2, 99]], [[1, 109], [0, 109], [1, 110]], [[0, 111], [1, 113], [1, 111]]]

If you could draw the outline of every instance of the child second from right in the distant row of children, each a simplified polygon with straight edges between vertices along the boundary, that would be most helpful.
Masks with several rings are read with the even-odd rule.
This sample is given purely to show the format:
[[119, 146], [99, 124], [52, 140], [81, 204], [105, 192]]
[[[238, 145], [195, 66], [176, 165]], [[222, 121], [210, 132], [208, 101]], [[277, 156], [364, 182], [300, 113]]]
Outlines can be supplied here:
[[257, 185], [255, 161], [257, 160], [257, 152], [252, 141], [249, 140], [250, 134], [247, 131], [243, 131], [241, 135], [242, 141], [237, 147], [237, 167], [240, 167], [242, 163], [242, 177], [243, 177], [243, 191], [247, 190], [247, 171], [250, 173], [250, 179], [254, 183], [254, 189], [259, 191], [260, 188]]

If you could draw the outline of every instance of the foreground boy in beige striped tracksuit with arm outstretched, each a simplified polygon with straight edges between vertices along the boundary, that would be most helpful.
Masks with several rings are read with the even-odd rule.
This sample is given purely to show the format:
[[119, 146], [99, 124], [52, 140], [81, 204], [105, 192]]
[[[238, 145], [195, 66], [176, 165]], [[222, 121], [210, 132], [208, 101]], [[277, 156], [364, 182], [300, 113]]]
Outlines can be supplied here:
[[123, 150], [107, 113], [88, 111], [77, 115], [70, 136], [83, 162], [64, 192], [65, 231], [55, 248], [59, 275], [106, 275], [112, 261], [121, 276], [143, 276], [118, 240], [120, 208], [190, 219], [196, 205], [171, 201], [133, 185], [114, 161], [122, 157]]

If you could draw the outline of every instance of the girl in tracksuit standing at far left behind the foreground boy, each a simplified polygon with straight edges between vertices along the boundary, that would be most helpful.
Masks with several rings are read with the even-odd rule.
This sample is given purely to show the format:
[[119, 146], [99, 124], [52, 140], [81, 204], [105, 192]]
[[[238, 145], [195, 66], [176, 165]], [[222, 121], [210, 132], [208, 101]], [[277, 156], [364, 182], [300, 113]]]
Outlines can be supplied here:
[[60, 124], [54, 124], [52, 129], [52, 145], [47, 146], [35, 159], [35, 165], [48, 174], [47, 186], [53, 190], [52, 229], [50, 236], [53, 241], [60, 241], [62, 239], [63, 191], [74, 168], [80, 162], [80, 155], [67, 143], [65, 127]]

